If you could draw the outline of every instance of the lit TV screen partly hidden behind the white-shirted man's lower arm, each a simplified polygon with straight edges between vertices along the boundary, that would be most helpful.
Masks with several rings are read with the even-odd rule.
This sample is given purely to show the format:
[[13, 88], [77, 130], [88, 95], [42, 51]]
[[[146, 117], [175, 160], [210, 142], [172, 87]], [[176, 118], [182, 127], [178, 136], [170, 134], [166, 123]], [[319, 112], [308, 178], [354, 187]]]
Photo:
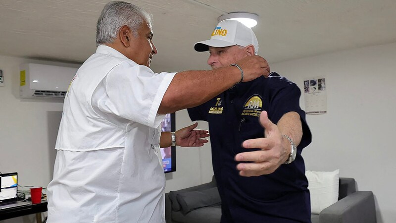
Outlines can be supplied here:
[[[166, 114], [165, 118], [161, 122], [161, 131], [163, 132], [174, 132], [175, 126], [175, 113]], [[176, 171], [176, 147], [170, 146], [166, 148], [160, 148], [162, 157], [162, 167], [165, 173]]]

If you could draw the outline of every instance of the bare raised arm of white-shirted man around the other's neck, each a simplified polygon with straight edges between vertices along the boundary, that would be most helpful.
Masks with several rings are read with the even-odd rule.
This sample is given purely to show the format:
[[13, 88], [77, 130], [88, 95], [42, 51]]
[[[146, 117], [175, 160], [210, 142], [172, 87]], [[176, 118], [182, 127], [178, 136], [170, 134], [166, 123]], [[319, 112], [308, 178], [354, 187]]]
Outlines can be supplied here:
[[[243, 82], [269, 75], [268, 63], [260, 56], [246, 56], [237, 64], [244, 71]], [[241, 71], [235, 66], [178, 72], [162, 98], [158, 113], [172, 113], [201, 105], [240, 80]]]

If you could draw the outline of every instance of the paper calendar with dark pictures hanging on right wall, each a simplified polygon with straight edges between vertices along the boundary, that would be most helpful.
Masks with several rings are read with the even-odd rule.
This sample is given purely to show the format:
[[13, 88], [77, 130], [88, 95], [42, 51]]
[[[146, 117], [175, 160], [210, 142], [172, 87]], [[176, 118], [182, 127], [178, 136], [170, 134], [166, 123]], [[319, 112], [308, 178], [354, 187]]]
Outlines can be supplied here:
[[304, 101], [307, 114], [327, 112], [326, 80], [324, 77], [304, 79]]

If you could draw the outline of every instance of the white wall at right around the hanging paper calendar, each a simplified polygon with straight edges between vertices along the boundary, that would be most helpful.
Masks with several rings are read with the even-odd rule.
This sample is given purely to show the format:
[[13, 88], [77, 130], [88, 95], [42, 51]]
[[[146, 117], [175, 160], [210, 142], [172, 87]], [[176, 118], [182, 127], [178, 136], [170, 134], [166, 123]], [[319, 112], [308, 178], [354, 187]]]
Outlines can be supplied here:
[[270, 65], [300, 89], [305, 77], [326, 77], [327, 114], [307, 115], [306, 169], [339, 168], [373, 191], [378, 223], [396, 222], [396, 43]]

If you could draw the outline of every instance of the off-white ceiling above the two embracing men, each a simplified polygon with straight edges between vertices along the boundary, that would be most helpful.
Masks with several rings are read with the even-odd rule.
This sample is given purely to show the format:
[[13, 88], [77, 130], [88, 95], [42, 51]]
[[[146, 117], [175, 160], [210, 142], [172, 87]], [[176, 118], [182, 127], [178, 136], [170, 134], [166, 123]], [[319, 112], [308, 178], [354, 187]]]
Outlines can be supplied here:
[[[209, 69], [194, 43], [217, 17], [259, 15], [259, 55], [270, 63], [396, 42], [396, 0], [127, 0], [153, 14], [154, 71]], [[82, 62], [96, 49], [108, 0], [0, 0], [0, 55]]]

